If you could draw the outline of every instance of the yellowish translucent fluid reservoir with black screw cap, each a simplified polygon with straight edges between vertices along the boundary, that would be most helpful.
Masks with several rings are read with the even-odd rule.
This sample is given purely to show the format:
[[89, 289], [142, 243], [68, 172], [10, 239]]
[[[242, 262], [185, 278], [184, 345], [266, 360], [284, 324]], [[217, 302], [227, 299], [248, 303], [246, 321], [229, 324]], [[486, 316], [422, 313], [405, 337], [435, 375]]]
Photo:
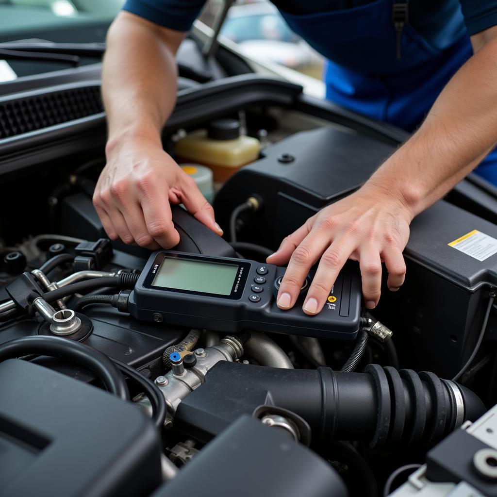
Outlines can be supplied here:
[[214, 181], [224, 183], [240, 167], [259, 157], [260, 144], [255, 138], [240, 134], [236, 119], [219, 119], [208, 129], [189, 133], [176, 143], [181, 162], [203, 164], [212, 169]]

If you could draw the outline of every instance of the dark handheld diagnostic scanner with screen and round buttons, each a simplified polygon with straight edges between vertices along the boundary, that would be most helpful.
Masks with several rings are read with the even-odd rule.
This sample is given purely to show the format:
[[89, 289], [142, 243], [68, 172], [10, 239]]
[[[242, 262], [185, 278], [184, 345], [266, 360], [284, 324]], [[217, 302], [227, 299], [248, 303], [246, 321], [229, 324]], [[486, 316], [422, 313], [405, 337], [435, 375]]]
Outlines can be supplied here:
[[284, 267], [247, 259], [160, 250], [153, 253], [129, 298], [142, 321], [236, 333], [244, 329], [354, 339], [360, 327], [361, 283], [357, 266], [342, 269], [323, 310], [302, 310], [315, 272], [304, 281], [292, 309], [276, 296]]

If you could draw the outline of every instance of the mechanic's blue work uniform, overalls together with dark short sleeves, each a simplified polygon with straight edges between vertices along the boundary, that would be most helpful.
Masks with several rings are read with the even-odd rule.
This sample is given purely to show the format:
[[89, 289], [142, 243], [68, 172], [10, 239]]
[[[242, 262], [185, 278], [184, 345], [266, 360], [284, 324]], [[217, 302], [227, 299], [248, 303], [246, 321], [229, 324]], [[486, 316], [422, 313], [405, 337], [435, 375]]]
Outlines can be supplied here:
[[[177, 31], [205, 0], [127, 0], [124, 9]], [[414, 131], [473, 54], [470, 36], [497, 25], [497, 0], [272, 0], [328, 59], [326, 96]], [[497, 151], [476, 172], [497, 184]]]

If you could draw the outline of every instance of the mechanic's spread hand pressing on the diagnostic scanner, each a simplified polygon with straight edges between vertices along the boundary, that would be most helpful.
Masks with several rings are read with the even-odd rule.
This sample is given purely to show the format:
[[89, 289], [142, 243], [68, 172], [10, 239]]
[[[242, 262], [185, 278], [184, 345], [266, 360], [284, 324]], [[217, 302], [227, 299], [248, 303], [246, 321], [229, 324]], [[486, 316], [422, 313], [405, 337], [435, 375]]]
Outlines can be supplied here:
[[267, 258], [268, 263], [277, 265], [290, 261], [278, 292], [278, 307], [290, 309], [295, 304], [311, 266], [321, 257], [304, 312], [313, 315], [323, 309], [347, 259], [359, 261], [364, 301], [368, 309], [373, 309], [380, 299], [381, 262], [388, 269], [391, 291], [404, 283], [406, 264], [402, 251], [409, 239], [411, 221], [410, 210], [400, 200], [367, 184], [325, 207], [286, 237]]

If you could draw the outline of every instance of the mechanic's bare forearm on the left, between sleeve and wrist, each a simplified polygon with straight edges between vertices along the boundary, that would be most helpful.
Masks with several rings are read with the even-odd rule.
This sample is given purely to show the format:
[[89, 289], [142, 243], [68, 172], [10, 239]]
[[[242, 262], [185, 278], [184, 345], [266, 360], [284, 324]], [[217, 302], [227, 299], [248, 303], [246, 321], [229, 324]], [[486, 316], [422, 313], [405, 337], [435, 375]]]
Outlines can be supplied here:
[[161, 146], [176, 98], [175, 47], [157, 26], [122, 12], [109, 29], [102, 74], [107, 152], [134, 138]]

